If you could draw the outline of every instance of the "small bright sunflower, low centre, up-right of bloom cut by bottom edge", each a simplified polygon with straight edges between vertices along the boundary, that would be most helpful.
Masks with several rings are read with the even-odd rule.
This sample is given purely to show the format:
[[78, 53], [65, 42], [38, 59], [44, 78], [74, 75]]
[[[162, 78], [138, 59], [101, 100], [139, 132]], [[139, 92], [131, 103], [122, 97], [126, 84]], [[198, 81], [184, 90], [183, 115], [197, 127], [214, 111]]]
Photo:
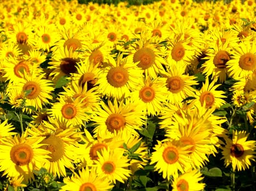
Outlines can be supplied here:
[[123, 156], [123, 152], [119, 150], [110, 151], [103, 148], [101, 153], [98, 153], [99, 159], [95, 161], [96, 172], [99, 176], [106, 176], [107, 180], [112, 183], [116, 181], [124, 183], [131, 174], [128, 170], [129, 159]]

